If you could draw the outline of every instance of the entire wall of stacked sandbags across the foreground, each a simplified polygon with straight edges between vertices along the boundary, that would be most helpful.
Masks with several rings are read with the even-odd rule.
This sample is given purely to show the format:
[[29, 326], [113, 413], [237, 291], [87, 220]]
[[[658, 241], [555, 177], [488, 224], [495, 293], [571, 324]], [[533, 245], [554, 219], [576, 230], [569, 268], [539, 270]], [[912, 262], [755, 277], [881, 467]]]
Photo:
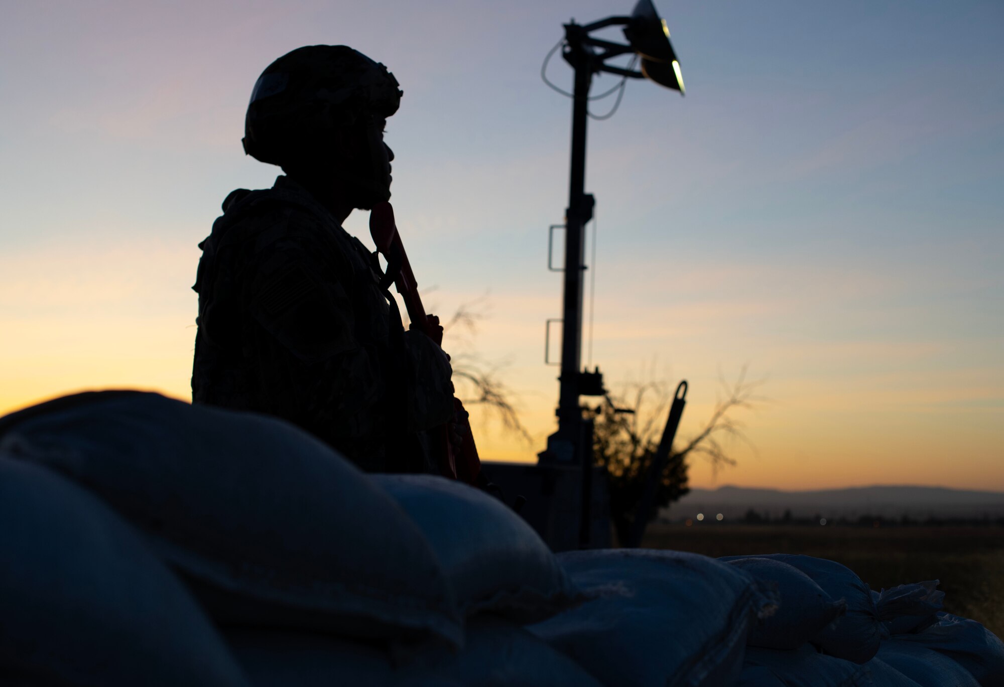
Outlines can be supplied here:
[[555, 555], [481, 490], [156, 394], [0, 419], [0, 684], [1004, 684], [1004, 646], [936, 583]]

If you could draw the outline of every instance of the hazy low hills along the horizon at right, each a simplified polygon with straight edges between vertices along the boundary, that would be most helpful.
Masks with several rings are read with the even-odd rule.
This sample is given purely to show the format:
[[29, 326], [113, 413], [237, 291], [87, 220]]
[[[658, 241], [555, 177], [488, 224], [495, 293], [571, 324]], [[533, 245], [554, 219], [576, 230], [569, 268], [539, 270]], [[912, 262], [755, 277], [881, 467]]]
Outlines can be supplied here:
[[718, 489], [692, 489], [669, 511], [661, 513], [673, 519], [694, 517], [697, 513], [727, 519], [740, 518], [749, 509], [770, 518], [791, 510], [794, 517], [856, 518], [881, 515], [889, 518], [998, 518], [1004, 517], [1004, 492], [966, 491], [926, 486], [866, 486], [815, 491], [781, 491], [722, 486]]

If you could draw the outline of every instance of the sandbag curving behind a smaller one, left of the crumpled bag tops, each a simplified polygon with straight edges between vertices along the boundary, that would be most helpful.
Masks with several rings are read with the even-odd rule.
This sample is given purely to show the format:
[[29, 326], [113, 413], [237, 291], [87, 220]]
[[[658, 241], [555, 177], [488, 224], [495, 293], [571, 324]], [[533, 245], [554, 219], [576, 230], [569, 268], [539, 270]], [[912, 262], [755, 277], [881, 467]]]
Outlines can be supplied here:
[[766, 553], [758, 556], [731, 555], [719, 560], [761, 557], [780, 560], [797, 567], [822, 588], [830, 598], [843, 599], [846, 613], [837, 621], [809, 638], [830, 656], [867, 663], [878, 651], [886, 629], [878, 620], [868, 586], [846, 565], [825, 558], [788, 553]]

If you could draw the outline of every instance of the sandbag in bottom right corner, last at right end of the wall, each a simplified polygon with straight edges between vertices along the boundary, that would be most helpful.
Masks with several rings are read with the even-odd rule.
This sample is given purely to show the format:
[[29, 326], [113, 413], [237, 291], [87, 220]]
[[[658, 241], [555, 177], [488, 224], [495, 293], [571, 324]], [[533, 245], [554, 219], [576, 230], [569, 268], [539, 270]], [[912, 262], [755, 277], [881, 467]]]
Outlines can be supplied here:
[[984, 687], [1004, 685], [1004, 643], [974, 620], [943, 612], [936, 615], [938, 622], [934, 625], [922, 632], [897, 635], [896, 640], [952, 659]]

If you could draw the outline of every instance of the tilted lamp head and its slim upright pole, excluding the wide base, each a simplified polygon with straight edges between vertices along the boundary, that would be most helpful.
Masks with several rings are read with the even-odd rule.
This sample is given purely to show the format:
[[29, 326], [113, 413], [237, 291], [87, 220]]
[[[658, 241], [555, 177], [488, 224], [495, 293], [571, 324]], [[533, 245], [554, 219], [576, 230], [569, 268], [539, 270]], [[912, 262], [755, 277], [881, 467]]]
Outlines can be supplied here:
[[[590, 35], [609, 26], [622, 26], [628, 44], [615, 43]], [[571, 173], [568, 209], [565, 211], [565, 255], [562, 270], [561, 375], [558, 377], [557, 431], [547, 438], [547, 448], [538, 454], [541, 463], [578, 466], [582, 470], [582, 513], [580, 545], [588, 544], [589, 485], [592, 475], [591, 422], [582, 418], [580, 396], [605, 393], [602, 375], [581, 369], [582, 285], [585, 269], [584, 228], [592, 219], [593, 197], [585, 187], [585, 129], [588, 117], [589, 86], [593, 74], [607, 72], [626, 78], [649, 78], [684, 94], [680, 60], [670, 43], [670, 30], [659, 16], [652, 0], [639, 0], [631, 16], [614, 16], [591, 24], [564, 25], [564, 49], [561, 56], [575, 72], [572, 95]], [[557, 47], [557, 46], [555, 46]], [[636, 54], [642, 60], [641, 71], [608, 64], [618, 55]], [[546, 65], [546, 61], [545, 61]], [[546, 78], [545, 78], [546, 80]]]

